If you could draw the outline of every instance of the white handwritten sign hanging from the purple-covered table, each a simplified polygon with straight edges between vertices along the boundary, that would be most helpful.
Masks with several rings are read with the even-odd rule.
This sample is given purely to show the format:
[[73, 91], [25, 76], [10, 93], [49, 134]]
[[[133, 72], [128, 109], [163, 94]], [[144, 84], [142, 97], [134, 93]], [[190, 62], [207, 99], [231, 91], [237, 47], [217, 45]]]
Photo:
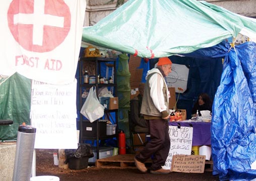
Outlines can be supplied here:
[[171, 168], [173, 155], [190, 155], [193, 139], [193, 127], [169, 126], [170, 150], [165, 161], [164, 169]]

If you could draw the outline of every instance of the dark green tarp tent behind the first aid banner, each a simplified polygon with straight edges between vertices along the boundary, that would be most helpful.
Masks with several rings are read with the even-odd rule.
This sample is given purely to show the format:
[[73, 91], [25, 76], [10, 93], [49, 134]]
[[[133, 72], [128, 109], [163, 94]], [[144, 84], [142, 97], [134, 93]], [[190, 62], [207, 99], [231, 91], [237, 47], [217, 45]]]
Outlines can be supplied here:
[[16, 140], [19, 126], [30, 125], [31, 80], [15, 73], [0, 83], [0, 120], [12, 120], [12, 125], [0, 125], [0, 141]]

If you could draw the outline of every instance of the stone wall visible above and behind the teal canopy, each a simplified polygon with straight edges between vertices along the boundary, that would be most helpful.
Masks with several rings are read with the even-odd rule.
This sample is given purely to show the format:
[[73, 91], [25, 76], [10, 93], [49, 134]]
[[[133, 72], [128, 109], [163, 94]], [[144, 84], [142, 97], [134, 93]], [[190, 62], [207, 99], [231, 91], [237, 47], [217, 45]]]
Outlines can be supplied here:
[[[87, 0], [84, 26], [93, 26], [116, 10], [117, 3], [127, 0]], [[255, 0], [206, 0], [208, 3], [223, 7], [233, 13], [256, 18]]]

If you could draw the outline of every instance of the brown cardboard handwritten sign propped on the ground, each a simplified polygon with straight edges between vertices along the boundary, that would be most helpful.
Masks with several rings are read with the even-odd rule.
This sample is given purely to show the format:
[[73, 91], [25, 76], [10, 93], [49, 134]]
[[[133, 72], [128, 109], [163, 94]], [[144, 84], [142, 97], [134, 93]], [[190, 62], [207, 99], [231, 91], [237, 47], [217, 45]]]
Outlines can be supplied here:
[[204, 173], [205, 155], [173, 155], [171, 171]]

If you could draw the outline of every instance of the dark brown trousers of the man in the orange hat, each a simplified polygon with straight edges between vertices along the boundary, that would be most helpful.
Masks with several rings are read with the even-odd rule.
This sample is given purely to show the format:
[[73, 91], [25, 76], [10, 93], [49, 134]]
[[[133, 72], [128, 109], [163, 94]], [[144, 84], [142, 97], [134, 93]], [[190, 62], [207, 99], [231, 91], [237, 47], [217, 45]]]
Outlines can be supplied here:
[[145, 162], [153, 155], [151, 170], [162, 168], [170, 150], [169, 123], [166, 120], [149, 120], [150, 141], [136, 155], [136, 159]]

